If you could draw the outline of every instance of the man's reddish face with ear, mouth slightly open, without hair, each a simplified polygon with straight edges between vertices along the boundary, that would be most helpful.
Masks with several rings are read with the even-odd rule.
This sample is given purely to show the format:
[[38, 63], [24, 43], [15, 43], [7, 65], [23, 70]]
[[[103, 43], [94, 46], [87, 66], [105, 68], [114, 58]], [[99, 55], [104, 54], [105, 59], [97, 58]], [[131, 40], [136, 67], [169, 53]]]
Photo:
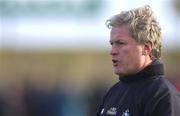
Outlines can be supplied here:
[[136, 42], [126, 25], [112, 27], [110, 44], [114, 73], [120, 77], [136, 74], [152, 62], [152, 44]]

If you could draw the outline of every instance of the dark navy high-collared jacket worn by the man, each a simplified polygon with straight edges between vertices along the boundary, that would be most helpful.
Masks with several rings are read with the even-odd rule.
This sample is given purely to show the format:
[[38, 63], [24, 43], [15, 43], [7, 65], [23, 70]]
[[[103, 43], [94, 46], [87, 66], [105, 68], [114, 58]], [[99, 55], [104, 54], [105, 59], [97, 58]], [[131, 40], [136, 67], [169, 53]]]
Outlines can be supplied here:
[[97, 116], [180, 116], [180, 94], [164, 78], [159, 60], [121, 77], [103, 99]]

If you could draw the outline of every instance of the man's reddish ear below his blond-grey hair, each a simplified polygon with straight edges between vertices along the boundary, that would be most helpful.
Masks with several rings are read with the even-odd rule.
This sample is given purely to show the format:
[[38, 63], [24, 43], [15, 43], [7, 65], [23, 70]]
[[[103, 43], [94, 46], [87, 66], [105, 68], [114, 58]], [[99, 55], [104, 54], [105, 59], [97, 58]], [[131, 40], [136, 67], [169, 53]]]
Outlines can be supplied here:
[[143, 45], [143, 55], [148, 55], [150, 56], [151, 55], [151, 52], [152, 52], [152, 49], [153, 49], [153, 43], [152, 42], [145, 42], [144, 45]]

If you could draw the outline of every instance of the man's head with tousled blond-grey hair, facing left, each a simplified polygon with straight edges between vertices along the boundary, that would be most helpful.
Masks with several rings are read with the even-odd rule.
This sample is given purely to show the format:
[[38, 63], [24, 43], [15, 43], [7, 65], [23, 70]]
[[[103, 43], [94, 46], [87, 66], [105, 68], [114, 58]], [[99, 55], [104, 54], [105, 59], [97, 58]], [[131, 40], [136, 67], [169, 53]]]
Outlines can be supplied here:
[[161, 56], [161, 29], [149, 6], [123, 11], [106, 22], [111, 28], [114, 72], [120, 76], [142, 70]]

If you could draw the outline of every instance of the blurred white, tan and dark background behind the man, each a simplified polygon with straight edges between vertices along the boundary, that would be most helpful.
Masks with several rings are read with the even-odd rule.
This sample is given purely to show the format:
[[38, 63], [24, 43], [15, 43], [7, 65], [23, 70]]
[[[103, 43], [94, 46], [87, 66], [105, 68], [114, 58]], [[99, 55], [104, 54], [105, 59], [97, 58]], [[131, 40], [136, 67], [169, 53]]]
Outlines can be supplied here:
[[105, 21], [145, 4], [180, 90], [180, 0], [0, 0], [0, 116], [95, 116], [118, 81]]

